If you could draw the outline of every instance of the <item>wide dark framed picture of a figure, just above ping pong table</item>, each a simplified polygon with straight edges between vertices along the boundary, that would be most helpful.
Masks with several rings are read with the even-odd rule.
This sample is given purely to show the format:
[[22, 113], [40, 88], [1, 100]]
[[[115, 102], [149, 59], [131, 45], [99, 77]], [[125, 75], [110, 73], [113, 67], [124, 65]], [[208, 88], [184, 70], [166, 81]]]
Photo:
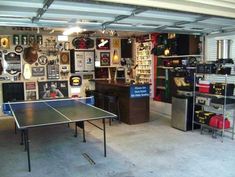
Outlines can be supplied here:
[[56, 99], [68, 97], [68, 81], [38, 82], [39, 99]]

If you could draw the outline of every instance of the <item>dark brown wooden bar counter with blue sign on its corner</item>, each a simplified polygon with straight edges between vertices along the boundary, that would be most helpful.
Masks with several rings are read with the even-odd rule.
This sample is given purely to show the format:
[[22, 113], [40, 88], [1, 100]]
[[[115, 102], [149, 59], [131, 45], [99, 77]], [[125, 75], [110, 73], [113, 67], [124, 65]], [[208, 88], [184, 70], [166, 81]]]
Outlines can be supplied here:
[[149, 84], [95, 81], [95, 87], [98, 92], [118, 96], [122, 122], [139, 124], [149, 121]]

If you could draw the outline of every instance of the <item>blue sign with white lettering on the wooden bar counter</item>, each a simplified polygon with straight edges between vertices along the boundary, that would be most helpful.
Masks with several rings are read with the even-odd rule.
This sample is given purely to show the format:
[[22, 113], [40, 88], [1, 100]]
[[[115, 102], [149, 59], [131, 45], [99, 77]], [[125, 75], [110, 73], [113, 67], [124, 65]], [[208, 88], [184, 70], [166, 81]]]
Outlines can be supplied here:
[[131, 98], [141, 98], [149, 96], [149, 86], [148, 85], [131, 85], [130, 86], [130, 96]]

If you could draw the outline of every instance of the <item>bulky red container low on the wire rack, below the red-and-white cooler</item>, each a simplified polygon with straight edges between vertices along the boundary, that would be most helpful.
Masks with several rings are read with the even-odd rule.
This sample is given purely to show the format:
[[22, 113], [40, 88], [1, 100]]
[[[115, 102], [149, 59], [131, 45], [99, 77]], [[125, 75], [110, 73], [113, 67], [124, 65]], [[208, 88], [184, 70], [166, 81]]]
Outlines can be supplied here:
[[230, 121], [226, 118], [224, 120], [224, 117], [222, 115], [215, 115], [212, 116], [209, 122], [209, 125], [211, 127], [215, 127], [215, 128], [219, 128], [222, 129], [223, 128], [223, 122], [224, 122], [224, 128], [230, 128]]

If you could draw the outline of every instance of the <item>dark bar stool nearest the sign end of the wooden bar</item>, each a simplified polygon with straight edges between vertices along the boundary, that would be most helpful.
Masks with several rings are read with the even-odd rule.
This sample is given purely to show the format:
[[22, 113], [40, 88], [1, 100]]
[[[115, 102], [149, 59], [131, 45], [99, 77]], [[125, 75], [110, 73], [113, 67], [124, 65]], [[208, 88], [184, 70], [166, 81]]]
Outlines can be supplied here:
[[[106, 110], [117, 114], [117, 120], [121, 123], [120, 119], [120, 107], [119, 107], [119, 99], [116, 95], [106, 95], [105, 101], [107, 101], [107, 105], [105, 106]], [[109, 119], [109, 125], [111, 125], [112, 119]]]

